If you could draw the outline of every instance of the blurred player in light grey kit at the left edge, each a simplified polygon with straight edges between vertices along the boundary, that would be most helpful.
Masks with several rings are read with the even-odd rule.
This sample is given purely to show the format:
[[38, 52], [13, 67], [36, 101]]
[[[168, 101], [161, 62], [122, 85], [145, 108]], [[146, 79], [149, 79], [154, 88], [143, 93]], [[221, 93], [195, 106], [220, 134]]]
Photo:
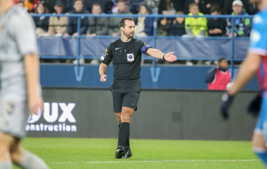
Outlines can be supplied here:
[[0, 169], [10, 169], [12, 163], [45, 169], [44, 161], [21, 145], [29, 110], [36, 114], [43, 109], [43, 99], [33, 19], [13, 4], [0, 0]]

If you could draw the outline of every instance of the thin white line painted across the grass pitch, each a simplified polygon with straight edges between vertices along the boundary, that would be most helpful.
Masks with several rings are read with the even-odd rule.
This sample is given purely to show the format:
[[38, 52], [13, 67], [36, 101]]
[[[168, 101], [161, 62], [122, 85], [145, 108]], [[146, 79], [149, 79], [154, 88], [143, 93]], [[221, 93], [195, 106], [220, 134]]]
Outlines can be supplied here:
[[51, 162], [49, 164], [72, 164], [72, 163], [157, 163], [157, 162], [240, 162], [260, 161], [260, 159], [225, 159], [225, 160], [159, 160], [159, 161], [88, 161], [88, 162]]

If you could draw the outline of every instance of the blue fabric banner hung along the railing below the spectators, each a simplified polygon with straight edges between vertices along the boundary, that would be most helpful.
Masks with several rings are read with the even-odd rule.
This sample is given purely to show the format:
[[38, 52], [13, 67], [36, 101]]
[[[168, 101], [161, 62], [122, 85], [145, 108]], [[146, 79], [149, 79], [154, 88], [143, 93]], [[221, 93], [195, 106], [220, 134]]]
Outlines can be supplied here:
[[[153, 44], [153, 39], [137, 37], [147, 44]], [[110, 37], [81, 37], [80, 57], [84, 59], [99, 59], [106, 47], [116, 38]], [[216, 39], [188, 39], [179, 37], [159, 37], [156, 40], [157, 49], [163, 52], [175, 52], [179, 60], [217, 60], [220, 57], [231, 59], [231, 40], [226, 38]], [[40, 37], [38, 45], [41, 58], [75, 58], [77, 53], [77, 39], [64, 39], [59, 37]], [[236, 38], [234, 50], [234, 60], [242, 60], [246, 57], [246, 49], [249, 40]], [[49, 50], [48, 50], [49, 49]], [[152, 60], [153, 57], [142, 57], [142, 59]]]

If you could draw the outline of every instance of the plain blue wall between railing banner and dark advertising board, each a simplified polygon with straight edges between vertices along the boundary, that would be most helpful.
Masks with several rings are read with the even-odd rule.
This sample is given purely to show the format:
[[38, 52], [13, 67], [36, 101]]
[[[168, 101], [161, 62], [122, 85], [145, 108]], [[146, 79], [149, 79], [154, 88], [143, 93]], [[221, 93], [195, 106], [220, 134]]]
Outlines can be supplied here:
[[[110, 88], [113, 76], [112, 65], [107, 67], [107, 81], [99, 81], [99, 65], [84, 65], [80, 69], [83, 76], [79, 76], [75, 65], [68, 64], [41, 64], [41, 85], [43, 87], [59, 88]], [[197, 89], [207, 90], [205, 83], [206, 73], [212, 66], [169, 66], [158, 65], [156, 74], [153, 67], [141, 66], [141, 88], [142, 89]], [[73, 69], [75, 71], [73, 71]], [[234, 68], [234, 76], [237, 73]], [[159, 71], [160, 70], [160, 71]], [[152, 76], [151, 76], [152, 75]], [[258, 90], [257, 77], [253, 77], [244, 90]]]

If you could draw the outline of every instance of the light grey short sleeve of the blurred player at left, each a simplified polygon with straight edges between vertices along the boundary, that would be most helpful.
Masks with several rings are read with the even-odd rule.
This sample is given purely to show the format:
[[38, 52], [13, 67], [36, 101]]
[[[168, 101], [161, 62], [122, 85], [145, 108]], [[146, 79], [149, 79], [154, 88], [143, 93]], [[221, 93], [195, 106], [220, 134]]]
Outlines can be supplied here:
[[15, 15], [8, 26], [22, 57], [29, 53], [38, 53], [35, 26], [30, 16]]

